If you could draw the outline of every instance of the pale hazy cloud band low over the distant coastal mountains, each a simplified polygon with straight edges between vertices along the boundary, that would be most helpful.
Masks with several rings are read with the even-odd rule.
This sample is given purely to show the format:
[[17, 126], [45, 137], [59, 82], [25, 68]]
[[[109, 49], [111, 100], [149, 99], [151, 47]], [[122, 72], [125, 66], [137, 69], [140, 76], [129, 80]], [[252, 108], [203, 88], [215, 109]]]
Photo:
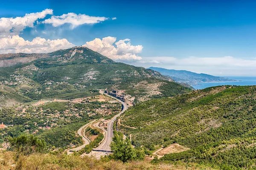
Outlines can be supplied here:
[[187, 70], [215, 76], [256, 76], [256, 58], [236, 57], [143, 57], [132, 63], [145, 68], [154, 66], [175, 70]]

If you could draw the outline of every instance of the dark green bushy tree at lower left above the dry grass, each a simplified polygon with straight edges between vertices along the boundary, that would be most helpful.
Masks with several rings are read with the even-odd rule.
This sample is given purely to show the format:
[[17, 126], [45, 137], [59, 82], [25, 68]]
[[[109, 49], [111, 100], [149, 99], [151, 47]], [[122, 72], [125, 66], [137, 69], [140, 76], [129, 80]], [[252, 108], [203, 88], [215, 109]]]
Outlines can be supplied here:
[[45, 148], [44, 140], [38, 139], [38, 137], [33, 135], [21, 135], [11, 138], [10, 144], [13, 150], [24, 155], [42, 152]]

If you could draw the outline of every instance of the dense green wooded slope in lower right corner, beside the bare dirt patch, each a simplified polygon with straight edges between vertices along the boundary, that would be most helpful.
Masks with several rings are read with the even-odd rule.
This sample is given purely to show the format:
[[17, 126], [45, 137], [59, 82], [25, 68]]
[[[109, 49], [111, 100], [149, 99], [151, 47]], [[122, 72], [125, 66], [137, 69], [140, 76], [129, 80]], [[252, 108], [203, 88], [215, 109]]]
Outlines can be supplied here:
[[[212, 164], [224, 170], [255, 169], [256, 137], [236, 138], [229, 141], [201, 145], [181, 153], [165, 155], [160, 159], [166, 163], [175, 161]], [[158, 161], [158, 160], [154, 160]]]

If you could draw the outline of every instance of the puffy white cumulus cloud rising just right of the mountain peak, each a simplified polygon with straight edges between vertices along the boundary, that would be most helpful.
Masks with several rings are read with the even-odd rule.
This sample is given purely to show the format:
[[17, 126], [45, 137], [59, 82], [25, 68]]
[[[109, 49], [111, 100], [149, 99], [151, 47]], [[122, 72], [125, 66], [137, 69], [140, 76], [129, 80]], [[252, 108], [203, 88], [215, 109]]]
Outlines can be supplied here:
[[134, 61], [141, 60], [142, 57], [137, 54], [142, 52], [142, 45], [131, 45], [129, 39], [119, 40], [116, 43], [116, 37], [105, 37], [100, 40], [96, 38], [90, 42], [86, 42], [86, 46], [93, 51], [107, 56], [116, 61]]

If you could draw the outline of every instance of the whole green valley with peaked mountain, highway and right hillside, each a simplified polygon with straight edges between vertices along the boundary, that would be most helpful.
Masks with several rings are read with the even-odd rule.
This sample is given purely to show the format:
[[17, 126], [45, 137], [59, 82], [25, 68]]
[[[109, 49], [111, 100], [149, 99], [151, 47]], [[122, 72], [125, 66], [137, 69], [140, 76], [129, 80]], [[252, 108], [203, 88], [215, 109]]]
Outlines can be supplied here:
[[[194, 90], [84, 47], [0, 71], [3, 150], [12, 150], [9, 139], [33, 135], [45, 141], [45, 153], [70, 158], [215, 169], [256, 164], [255, 86]], [[241, 157], [230, 156], [237, 152]]]

